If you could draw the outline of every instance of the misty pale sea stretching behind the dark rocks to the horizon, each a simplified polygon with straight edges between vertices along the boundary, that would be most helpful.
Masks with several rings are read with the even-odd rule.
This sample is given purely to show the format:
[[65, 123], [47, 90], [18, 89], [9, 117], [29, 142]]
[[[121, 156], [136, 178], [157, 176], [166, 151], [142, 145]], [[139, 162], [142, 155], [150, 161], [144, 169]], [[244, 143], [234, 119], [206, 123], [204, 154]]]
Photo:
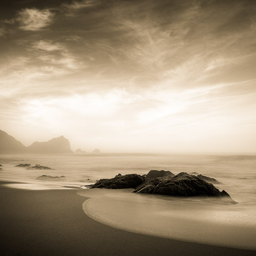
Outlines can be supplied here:
[[[14, 167], [20, 163], [40, 164], [53, 169]], [[222, 182], [217, 187], [226, 190], [238, 203], [256, 205], [256, 156], [252, 155], [18, 154], [0, 155], [0, 164], [3, 165], [0, 170], [2, 180], [33, 183], [41, 175], [63, 175], [67, 184], [76, 185], [91, 184], [119, 173], [147, 174], [151, 169], [170, 170], [174, 174], [196, 172]]]

